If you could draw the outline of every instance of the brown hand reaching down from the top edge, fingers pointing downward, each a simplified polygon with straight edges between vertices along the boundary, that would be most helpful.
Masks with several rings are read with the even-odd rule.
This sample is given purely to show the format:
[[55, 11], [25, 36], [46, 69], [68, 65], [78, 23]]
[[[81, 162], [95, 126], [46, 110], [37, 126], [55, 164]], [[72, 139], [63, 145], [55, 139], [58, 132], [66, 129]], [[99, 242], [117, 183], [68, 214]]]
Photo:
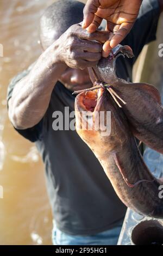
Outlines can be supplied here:
[[[103, 57], [111, 48], [125, 38], [139, 14], [142, 0], [88, 0], [84, 8], [83, 28], [95, 32], [102, 20], [106, 20], [106, 30], [112, 32], [103, 45]], [[140, 28], [141, 29], [141, 28]]]

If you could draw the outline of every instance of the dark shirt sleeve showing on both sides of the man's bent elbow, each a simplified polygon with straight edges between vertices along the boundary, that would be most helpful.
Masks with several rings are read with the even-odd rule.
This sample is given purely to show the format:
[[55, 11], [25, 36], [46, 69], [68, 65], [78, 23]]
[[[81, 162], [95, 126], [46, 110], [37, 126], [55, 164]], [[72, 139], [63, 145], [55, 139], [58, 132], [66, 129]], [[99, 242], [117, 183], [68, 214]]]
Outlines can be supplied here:
[[[22, 71], [21, 73], [19, 73], [17, 76], [15, 76], [14, 78], [12, 78], [9, 86], [8, 86], [8, 92], [7, 92], [7, 106], [8, 106], [8, 101], [12, 96], [12, 92], [13, 89], [15, 87], [15, 85], [26, 75], [29, 74], [30, 70], [33, 68], [34, 63], [32, 65], [29, 66], [29, 68], [27, 70]], [[36, 124], [35, 126], [28, 128], [28, 129], [24, 129], [24, 130], [19, 130], [16, 129], [14, 127], [14, 129], [20, 133], [20, 135], [22, 135], [24, 138], [29, 139], [29, 141], [31, 142], [35, 142], [38, 140], [41, 140], [42, 138], [42, 126], [43, 126], [43, 119], [41, 119], [41, 121]]]

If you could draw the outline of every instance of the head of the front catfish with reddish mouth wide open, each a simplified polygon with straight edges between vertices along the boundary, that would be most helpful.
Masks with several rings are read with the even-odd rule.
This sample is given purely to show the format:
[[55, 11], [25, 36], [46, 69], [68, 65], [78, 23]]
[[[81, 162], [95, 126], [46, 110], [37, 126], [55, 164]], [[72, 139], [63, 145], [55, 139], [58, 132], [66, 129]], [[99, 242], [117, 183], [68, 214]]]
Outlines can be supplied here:
[[[76, 131], [91, 150], [96, 152], [96, 156], [114, 150], [117, 145], [115, 141], [118, 136], [122, 136], [122, 131], [118, 131], [123, 127], [118, 111], [120, 109], [115, 106], [106, 89], [80, 93], [76, 97]], [[104, 150], [105, 147], [107, 150]]]

